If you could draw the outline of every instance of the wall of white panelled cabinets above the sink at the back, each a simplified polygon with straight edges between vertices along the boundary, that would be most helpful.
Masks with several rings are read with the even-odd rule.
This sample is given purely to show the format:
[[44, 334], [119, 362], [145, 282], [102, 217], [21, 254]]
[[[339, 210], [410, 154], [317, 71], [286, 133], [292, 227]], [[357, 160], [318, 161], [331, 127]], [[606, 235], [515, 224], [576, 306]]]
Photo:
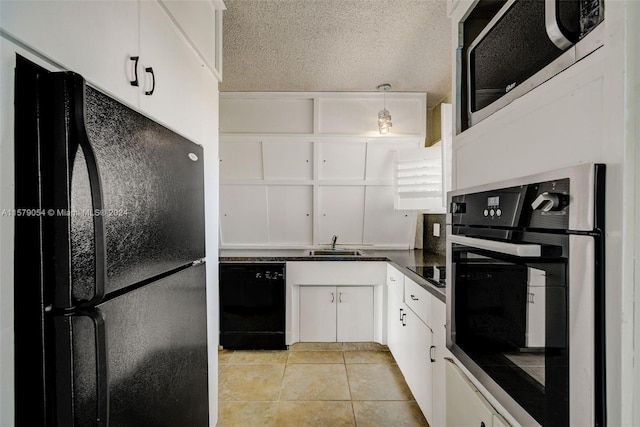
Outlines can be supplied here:
[[[413, 247], [415, 211], [394, 210], [394, 151], [424, 144], [425, 94], [387, 95], [398, 125], [391, 135], [377, 131], [378, 93], [220, 96], [221, 184], [229, 191], [243, 185], [268, 188], [270, 245], [327, 245], [336, 234], [342, 245]], [[223, 212], [225, 201], [220, 203]], [[225, 235], [225, 223], [221, 227]], [[242, 243], [225, 239], [221, 245], [260, 247], [262, 237], [258, 233], [255, 242]]]

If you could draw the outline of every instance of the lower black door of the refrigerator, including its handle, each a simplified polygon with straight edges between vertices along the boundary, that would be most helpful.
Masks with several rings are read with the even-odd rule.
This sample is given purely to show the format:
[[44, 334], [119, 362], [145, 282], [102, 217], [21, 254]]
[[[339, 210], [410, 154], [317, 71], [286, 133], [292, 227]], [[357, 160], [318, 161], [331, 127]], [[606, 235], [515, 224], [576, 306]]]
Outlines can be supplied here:
[[58, 317], [57, 425], [207, 426], [204, 279], [200, 264]]

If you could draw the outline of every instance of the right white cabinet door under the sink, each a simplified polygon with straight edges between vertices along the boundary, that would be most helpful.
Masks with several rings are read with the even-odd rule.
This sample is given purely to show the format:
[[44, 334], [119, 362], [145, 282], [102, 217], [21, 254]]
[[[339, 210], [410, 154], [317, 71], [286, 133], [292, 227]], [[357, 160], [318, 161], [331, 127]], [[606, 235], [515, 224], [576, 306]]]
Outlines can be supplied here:
[[338, 342], [373, 341], [373, 286], [337, 288]]

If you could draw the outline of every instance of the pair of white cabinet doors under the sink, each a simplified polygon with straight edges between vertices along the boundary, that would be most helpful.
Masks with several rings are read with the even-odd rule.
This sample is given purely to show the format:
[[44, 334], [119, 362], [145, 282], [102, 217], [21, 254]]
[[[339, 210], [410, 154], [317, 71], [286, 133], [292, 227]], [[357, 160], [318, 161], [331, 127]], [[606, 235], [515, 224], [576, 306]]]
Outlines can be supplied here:
[[301, 286], [300, 341], [373, 341], [373, 286]]

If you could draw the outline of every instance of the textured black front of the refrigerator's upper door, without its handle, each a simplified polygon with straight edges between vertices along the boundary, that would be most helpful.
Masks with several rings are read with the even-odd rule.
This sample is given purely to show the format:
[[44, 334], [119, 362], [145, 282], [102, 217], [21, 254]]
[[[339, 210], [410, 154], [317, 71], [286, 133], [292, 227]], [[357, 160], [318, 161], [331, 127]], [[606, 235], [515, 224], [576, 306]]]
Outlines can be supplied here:
[[[105, 293], [204, 257], [202, 147], [85, 88], [85, 127], [99, 171]], [[73, 297], [93, 295], [96, 251], [91, 161], [79, 150], [71, 179]]]

